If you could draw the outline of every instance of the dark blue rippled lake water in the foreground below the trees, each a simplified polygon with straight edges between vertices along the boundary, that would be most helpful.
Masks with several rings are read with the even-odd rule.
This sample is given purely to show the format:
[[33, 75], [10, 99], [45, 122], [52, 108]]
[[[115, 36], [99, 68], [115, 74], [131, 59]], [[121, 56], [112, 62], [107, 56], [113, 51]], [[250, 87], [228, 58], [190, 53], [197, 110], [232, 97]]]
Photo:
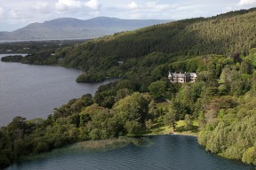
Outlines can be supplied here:
[[196, 137], [156, 135], [149, 143], [109, 151], [76, 151], [9, 166], [7, 170], [252, 170], [204, 151]]

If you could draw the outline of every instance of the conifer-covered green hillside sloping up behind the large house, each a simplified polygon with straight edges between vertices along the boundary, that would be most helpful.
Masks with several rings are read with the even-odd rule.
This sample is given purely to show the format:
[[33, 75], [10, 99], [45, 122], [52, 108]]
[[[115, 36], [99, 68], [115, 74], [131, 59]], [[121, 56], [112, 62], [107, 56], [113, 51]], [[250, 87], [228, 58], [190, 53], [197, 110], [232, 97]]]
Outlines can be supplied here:
[[256, 10], [251, 9], [118, 33], [60, 50], [59, 58], [63, 58], [63, 66], [94, 72], [152, 52], [170, 57], [248, 53], [256, 44], [255, 15]]

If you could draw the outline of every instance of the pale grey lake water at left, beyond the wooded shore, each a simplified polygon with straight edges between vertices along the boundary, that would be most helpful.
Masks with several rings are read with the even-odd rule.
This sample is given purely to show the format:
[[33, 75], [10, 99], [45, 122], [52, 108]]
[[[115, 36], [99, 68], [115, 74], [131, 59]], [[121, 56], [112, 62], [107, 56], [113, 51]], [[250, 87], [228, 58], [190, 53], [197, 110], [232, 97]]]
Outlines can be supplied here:
[[[0, 58], [7, 54], [0, 54]], [[32, 66], [0, 62], [0, 127], [15, 116], [46, 118], [55, 107], [86, 93], [92, 95], [108, 81], [76, 83], [81, 71], [60, 66]]]

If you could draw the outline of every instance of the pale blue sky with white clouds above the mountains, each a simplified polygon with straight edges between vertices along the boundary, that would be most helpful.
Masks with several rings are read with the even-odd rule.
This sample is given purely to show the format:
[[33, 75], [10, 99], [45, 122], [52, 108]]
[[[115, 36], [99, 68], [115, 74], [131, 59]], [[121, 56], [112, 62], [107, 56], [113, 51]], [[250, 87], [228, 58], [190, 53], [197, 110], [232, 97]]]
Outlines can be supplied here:
[[0, 31], [51, 19], [190, 19], [256, 7], [256, 0], [0, 0]]

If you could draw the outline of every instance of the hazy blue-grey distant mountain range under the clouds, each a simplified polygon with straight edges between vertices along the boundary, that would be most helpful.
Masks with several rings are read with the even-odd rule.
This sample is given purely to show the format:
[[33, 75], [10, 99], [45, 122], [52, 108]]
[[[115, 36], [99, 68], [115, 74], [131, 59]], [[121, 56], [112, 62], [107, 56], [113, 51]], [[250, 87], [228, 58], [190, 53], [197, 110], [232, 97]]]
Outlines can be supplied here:
[[13, 32], [0, 32], [1, 41], [91, 39], [116, 32], [138, 29], [172, 20], [164, 19], [116, 19], [98, 17], [94, 19], [60, 18], [33, 23]]

